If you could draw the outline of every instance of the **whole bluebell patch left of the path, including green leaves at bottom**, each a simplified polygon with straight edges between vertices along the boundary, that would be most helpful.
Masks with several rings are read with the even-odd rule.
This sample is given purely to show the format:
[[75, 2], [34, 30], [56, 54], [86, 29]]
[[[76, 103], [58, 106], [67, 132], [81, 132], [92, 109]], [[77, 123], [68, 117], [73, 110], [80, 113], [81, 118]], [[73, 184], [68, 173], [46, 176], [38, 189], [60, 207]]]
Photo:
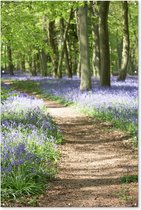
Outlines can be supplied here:
[[42, 192], [56, 173], [62, 135], [44, 102], [2, 85], [2, 199]]

